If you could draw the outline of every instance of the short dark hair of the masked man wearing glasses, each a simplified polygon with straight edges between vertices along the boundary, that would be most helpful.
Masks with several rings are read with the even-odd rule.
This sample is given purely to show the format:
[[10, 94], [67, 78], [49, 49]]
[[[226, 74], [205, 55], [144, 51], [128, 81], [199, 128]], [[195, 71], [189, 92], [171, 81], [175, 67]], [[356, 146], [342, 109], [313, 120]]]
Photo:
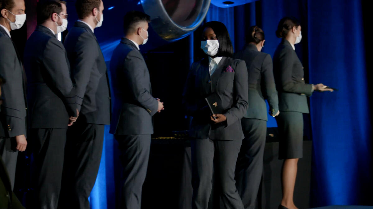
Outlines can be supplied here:
[[61, 4], [66, 4], [66, 1], [39, 0], [36, 6], [38, 25], [43, 24], [53, 13], [59, 14], [62, 11]]

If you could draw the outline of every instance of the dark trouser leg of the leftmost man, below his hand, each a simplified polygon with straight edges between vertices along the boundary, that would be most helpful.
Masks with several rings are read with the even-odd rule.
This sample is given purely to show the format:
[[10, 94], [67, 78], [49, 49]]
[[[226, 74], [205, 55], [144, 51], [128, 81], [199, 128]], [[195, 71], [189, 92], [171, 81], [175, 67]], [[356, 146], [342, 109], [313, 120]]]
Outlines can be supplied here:
[[10, 183], [12, 184], [12, 190], [14, 188], [18, 157], [18, 150], [16, 147], [17, 142], [15, 137], [0, 139], [0, 156], [3, 158], [4, 165], [8, 171]]

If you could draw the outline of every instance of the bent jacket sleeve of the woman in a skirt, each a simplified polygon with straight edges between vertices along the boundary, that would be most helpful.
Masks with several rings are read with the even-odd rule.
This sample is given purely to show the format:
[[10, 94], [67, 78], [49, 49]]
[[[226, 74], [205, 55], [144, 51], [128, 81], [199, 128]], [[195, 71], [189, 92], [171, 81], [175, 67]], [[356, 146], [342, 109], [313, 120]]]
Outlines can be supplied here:
[[294, 82], [294, 80], [292, 80], [294, 57], [292, 57], [291, 55], [292, 54], [291, 50], [292, 49], [284, 48], [280, 52], [279, 70], [281, 74], [281, 84], [278, 86], [282, 87], [281, 91], [284, 91], [284, 92], [306, 94], [307, 96], [311, 96], [312, 94], [311, 84]]

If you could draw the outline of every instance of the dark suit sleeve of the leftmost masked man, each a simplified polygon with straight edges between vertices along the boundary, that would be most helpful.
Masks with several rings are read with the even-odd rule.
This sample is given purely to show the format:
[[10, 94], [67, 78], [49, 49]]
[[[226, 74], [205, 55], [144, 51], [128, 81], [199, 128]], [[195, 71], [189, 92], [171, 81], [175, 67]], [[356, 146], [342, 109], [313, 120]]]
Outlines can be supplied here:
[[1, 105], [1, 115], [4, 116], [4, 125], [8, 125], [9, 129], [4, 128], [9, 137], [26, 134], [25, 123], [25, 102], [23, 97], [22, 72], [23, 69], [15, 69], [18, 62], [17, 54], [11, 53], [14, 48], [10, 40], [5, 37], [0, 38], [1, 53], [0, 53], [0, 76], [6, 80], [6, 83], [1, 86], [1, 97], [3, 103]]

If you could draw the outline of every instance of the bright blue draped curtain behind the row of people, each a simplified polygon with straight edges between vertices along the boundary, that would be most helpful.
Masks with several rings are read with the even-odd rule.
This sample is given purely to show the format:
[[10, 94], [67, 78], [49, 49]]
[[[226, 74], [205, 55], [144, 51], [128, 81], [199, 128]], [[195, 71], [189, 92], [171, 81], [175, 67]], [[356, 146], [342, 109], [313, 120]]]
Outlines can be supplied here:
[[[228, 9], [211, 5], [205, 21], [223, 22], [235, 50], [243, 48], [248, 26], [260, 26], [266, 35], [263, 52], [273, 56], [280, 42], [275, 30], [283, 16], [301, 21], [303, 39], [295, 47], [305, 67], [305, 80], [339, 89], [310, 97], [311, 205], [373, 205], [369, 195], [373, 186], [372, 126], [361, 1], [261, 0]], [[99, 41], [103, 39], [98, 35]], [[106, 61], [117, 43], [117, 39], [100, 43]], [[269, 127], [275, 123], [270, 120]], [[120, 169], [117, 144], [106, 127], [100, 170], [90, 197], [92, 209], [115, 208]]]

